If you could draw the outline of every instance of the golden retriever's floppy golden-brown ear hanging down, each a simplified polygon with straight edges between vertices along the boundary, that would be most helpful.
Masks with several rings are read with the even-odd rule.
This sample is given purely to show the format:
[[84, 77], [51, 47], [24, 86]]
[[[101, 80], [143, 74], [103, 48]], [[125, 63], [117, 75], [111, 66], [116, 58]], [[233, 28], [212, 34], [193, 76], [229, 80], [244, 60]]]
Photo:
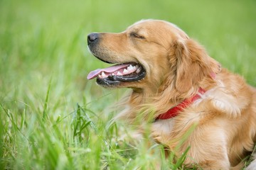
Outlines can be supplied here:
[[175, 87], [180, 92], [188, 91], [203, 77], [218, 72], [218, 62], [209, 57], [204, 48], [194, 40], [177, 40], [172, 52], [172, 60], [176, 60]]

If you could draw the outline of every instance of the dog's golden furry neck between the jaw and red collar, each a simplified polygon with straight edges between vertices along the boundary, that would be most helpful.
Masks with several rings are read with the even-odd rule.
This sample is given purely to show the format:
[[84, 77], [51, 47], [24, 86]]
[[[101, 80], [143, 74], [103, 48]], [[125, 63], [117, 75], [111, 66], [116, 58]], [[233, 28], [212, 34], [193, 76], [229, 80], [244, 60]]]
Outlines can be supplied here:
[[[199, 87], [206, 91], [212, 89], [215, 86], [217, 74], [217, 72], [210, 74], [210, 77], [205, 77], [201, 82], [198, 82], [197, 86], [193, 86], [189, 91], [183, 93], [175, 88], [174, 80], [170, 80], [169, 85], [163, 84], [158, 89], [132, 89], [132, 94], [129, 96], [127, 103], [128, 107], [125, 111], [122, 111], [119, 117], [134, 122], [133, 120], [138, 118], [138, 114], [143, 113], [142, 119], [149, 122], [152, 119], [156, 120], [159, 115], [168, 112], [170, 108], [178, 106], [179, 103], [186, 101], [187, 98], [196, 96], [200, 89]], [[154, 115], [151, 115], [151, 113]]]

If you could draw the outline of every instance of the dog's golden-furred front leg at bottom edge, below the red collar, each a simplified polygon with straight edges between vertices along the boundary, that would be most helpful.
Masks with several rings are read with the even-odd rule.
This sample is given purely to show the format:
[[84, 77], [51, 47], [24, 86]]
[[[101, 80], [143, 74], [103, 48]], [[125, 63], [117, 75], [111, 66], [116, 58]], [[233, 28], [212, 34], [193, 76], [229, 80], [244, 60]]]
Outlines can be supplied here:
[[177, 140], [181, 136], [172, 136], [176, 142], [170, 142], [169, 147], [177, 156], [190, 147], [184, 162], [186, 166], [197, 164], [199, 169], [230, 169], [225, 132], [221, 128], [198, 125], [185, 140]]

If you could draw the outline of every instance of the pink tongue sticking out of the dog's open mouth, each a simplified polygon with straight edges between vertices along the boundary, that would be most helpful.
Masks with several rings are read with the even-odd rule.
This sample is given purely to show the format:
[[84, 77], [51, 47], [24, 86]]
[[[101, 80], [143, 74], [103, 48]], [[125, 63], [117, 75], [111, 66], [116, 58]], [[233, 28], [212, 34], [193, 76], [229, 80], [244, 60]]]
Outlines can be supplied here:
[[123, 69], [128, 66], [129, 66], [129, 64], [119, 64], [119, 65], [114, 65], [112, 67], [108, 67], [105, 69], [95, 69], [94, 71], [90, 72], [87, 75], [87, 79], [93, 79], [93, 78], [97, 77], [97, 75], [99, 75], [101, 72], [112, 73], [112, 72], [117, 71], [118, 69]]

